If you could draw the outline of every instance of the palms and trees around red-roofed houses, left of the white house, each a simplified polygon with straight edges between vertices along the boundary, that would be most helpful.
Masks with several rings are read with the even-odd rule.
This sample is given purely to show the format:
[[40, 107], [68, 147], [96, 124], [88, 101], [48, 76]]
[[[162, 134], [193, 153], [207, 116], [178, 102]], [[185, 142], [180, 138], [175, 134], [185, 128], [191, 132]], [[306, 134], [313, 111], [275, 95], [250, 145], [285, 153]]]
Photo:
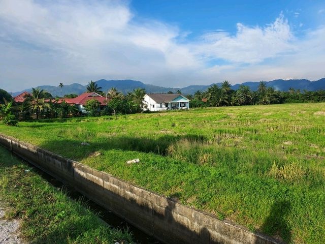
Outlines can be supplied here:
[[[59, 86], [62, 88], [63, 84]], [[86, 114], [82, 114], [76, 105], [68, 104], [64, 98], [76, 98], [77, 95], [69, 94], [60, 98], [54, 98], [43, 89], [32, 88], [24, 101], [15, 102], [12, 96], [0, 89], [0, 120], [10, 126], [16, 126], [18, 121], [39, 118], [67, 118], [74, 116], [100, 116], [111, 114], [130, 114], [142, 111], [144, 89], [134, 89], [125, 96], [116, 88], [111, 88], [104, 93], [93, 81], [87, 85], [87, 93], [94, 92], [106, 97], [106, 105], [103, 106], [96, 99], [88, 100], [85, 104]]]

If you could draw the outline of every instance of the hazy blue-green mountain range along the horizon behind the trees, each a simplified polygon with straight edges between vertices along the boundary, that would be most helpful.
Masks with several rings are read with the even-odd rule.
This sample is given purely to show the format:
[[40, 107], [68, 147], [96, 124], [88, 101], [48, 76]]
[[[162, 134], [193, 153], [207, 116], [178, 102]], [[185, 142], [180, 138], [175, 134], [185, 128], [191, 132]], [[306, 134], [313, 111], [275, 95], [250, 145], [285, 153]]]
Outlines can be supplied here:
[[[117, 88], [120, 92], [126, 94], [128, 92], [132, 92], [133, 89], [136, 88], [144, 88], [147, 93], [168, 93], [172, 91], [176, 93], [177, 90], [181, 90], [183, 94], [194, 94], [197, 90], [204, 91], [211, 85], [190, 85], [183, 88], [173, 88], [173, 87], [163, 87], [163, 86], [156, 86], [150, 84], [144, 84], [141, 81], [137, 80], [105, 80], [101, 79], [95, 82], [98, 86], [102, 87], [103, 91], [109, 90], [111, 87]], [[221, 86], [220, 83], [215, 83]], [[257, 90], [259, 82], [244, 82], [242, 84], [235, 84], [232, 85], [232, 89], [236, 90], [239, 88], [240, 85], [247, 85], [250, 87], [251, 90]], [[310, 81], [307, 79], [300, 79], [300, 80], [272, 80], [266, 82], [267, 86], [273, 86], [277, 90], [287, 91], [289, 88], [300, 89], [300, 90], [319, 90], [325, 89], [325, 78]], [[86, 92], [87, 85], [81, 85], [78, 83], [73, 83], [70, 85], [64, 85], [61, 91], [59, 86], [52, 86], [52, 85], [41, 85], [37, 88], [44, 89], [52, 96], [61, 96], [66, 94], [77, 94], [80, 95]], [[27, 91], [30, 92], [31, 88], [25, 89], [19, 92], [12, 93], [13, 96], [17, 96], [22, 92]]]

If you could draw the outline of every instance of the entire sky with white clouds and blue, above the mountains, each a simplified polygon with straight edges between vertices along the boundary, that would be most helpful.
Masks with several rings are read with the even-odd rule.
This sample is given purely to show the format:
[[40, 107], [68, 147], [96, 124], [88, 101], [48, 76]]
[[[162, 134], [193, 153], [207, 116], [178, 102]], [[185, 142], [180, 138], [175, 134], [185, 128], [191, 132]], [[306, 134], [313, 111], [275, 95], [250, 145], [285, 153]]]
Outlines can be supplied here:
[[325, 76], [325, 1], [0, 0], [0, 88]]

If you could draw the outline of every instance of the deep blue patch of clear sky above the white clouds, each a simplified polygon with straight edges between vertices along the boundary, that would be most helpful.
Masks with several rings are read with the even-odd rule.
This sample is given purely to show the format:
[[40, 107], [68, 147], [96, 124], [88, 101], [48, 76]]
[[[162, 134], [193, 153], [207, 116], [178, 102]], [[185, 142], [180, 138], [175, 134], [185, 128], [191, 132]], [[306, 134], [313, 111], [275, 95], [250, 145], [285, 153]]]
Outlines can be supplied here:
[[146, 1], [131, 2], [137, 13], [136, 19], [157, 19], [178, 25], [184, 31], [199, 37], [206, 32], [224, 29], [232, 34], [237, 31], [238, 22], [245, 25], [268, 24], [283, 12], [290, 19], [291, 27], [299, 31], [299, 24], [304, 28], [317, 27], [320, 19], [315, 13], [325, 7], [324, 1]]

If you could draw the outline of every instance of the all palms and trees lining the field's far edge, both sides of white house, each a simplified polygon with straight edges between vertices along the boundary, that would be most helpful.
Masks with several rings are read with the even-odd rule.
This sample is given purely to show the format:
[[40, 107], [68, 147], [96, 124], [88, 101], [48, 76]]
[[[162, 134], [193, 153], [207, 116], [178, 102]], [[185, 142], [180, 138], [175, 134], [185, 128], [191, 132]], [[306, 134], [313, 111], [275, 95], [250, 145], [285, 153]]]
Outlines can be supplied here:
[[[63, 83], [59, 84], [61, 95], [63, 95]], [[93, 81], [90, 81], [85, 92], [94, 92], [106, 97], [106, 105], [102, 106], [98, 100], [91, 99], [85, 104], [86, 115], [116, 115], [131, 114], [143, 111], [143, 98], [145, 89], [137, 88], [133, 92], [123, 95], [116, 88], [109, 89], [106, 93], [102, 91]], [[169, 92], [172, 93], [172, 92]], [[177, 90], [181, 94], [181, 90]], [[62, 98], [75, 98], [78, 95], [68, 94]], [[267, 87], [261, 81], [258, 89], [252, 91], [248, 86], [241, 85], [238, 90], [233, 90], [228, 81], [222, 82], [221, 86], [211, 85], [205, 92], [198, 90], [194, 95], [185, 95], [190, 101], [189, 107], [208, 106], [240, 106], [255, 104], [278, 104], [278, 103], [305, 103], [325, 102], [325, 90], [315, 92], [290, 88], [287, 92]], [[0, 89], [0, 120], [6, 125], [17, 125], [19, 120], [32, 118], [66, 118], [73, 116], [84, 116], [76, 105], [68, 104], [60, 99], [54, 98], [43, 89], [32, 88], [31, 93], [25, 97], [24, 102], [16, 103], [12, 96], [5, 90]]]

